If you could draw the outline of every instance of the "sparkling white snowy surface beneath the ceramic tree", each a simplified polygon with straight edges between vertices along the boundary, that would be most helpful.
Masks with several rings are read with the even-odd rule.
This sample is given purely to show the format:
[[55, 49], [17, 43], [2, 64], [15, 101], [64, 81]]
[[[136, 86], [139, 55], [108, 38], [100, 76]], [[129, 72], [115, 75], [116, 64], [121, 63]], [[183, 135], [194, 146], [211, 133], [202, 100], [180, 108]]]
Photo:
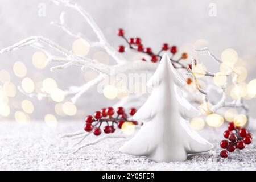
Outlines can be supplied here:
[[[82, 129], [81, 122], [59, 122], [56, 129], [49, 129], [44, 122], [20, 125], [0, 122], [1, 170], [255, 170], [256, 145], [251, 144], [241, 152], [234, 152], [223, 159], [218, 155], [218, 143], [224, 129], [205, 129], [201, 132], [214, 143], [214, 150], [189, 155], [185, 162], [155, 163], [144, 157], [118, 152], [122, 142], [108, 139], [71, 154], [72, 140], [59, 135]], [[254, 133], [255, 136], [255, 133]], [[86, 140], [93, 140], [91, 136]], [[217, 146], [217, 147], [216, 147]]]

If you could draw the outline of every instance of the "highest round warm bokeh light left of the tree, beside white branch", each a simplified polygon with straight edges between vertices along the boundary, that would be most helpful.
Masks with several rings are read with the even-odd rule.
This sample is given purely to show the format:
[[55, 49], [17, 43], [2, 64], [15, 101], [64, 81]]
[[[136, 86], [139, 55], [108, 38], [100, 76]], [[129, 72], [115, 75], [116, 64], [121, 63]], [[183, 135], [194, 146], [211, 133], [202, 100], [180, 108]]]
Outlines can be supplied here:
[[90, 44], [84, 39], [77, 39], [72, 44], [72, 51], [75, 55], [86, 56], [90, 50]]

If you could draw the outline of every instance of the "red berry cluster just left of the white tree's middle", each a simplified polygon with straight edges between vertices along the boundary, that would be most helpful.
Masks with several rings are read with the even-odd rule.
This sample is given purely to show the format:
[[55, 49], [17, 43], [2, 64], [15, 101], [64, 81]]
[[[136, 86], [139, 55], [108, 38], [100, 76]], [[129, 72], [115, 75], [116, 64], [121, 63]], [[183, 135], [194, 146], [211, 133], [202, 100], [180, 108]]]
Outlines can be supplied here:
[[[133, 116], [136, 113], [135, 108], [131, 108], [129, 114]], [[116, 116], [114, 117], [116, 113]], [[131, 122], [134, 125], [138, 125], [137, 121], [129, 121], [128, 115], [125, 113], [123, 107], [118, 107], [117, 110], [114, 110], [113, 107], [103, 108], [101, 111], [96, 111], [94, 115], [88, 115], [85, 118], [84, 130], [87, 132], [93, 131], [93, 134], [98, 136], [101, 134], [101, 125], [103, 122], [106, 122], [106, 126], [103, 131], [106, 134], [114, 133], [115, 126], [119, 129], [122, 128], [123, 123]]]

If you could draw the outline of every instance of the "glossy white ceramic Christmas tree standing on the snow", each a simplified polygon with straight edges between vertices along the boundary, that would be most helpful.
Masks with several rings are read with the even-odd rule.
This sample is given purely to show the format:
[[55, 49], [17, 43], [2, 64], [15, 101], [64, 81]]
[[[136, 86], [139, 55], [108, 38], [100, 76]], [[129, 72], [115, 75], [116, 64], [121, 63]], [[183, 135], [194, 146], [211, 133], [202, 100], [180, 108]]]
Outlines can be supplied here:
[[186, 160], [187, 154], [213, 148], [185, 119], [195, 109], [180, 97], [179, 87], [184, 86], [184, 80], [167, 54], [163, 55], [147, 86], [152, 88], [152, 93], [133, 117], [144, 125], [119, 151], [147, 156], [156, 162], [175, 162]]

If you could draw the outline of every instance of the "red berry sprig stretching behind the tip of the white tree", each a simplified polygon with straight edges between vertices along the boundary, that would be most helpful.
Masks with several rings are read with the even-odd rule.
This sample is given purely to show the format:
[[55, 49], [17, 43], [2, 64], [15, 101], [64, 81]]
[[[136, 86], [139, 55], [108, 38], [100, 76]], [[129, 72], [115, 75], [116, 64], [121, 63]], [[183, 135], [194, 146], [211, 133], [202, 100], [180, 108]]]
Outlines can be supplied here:
[[[160, 59], [162, 58], [161, 53], [163, 51], [170, 51], [172, 53], [172, 57], [177, 53], [178, 49], [177, 46], [169, 46], [167, 43], [163, 43], [162, 48], [160, 49], [160, 51], [158, 53], [154, 53], [152, 51], [152, 49], [150, 47], [144, 47], [144, 45], [142, 44], [142, 40], [141, 38], [126, 38], [125, 36], [125, 31], [123, 31], [122, 28], [119, 28], [117, 31], [117, 35], [121, 36], [123, 39], [125, 39], [126, 43], [129, 45], [130, 49], [136, 50], [138, 52], [142, 52], [145, 53], [146, 55], [150, 55], [151, 57], [151, 61], [153, 63], [156, 63], [157, 61], [160, 61]], [[125, 46], [120, 45], [118, 47], [118, 51], [119, 52], [125, 52]], [[180, 60], [184, 60], [187, 59], [188, 55], [187, 53], [182, 53], [181, 57], [177, 60], [174, 59], [170, 59], [172, 61], [172, 64], [174, 65], [175, 68], [183, 68], [183, 69], [187, 69], [187, 65], [184, 65], [182, 63], [180, 63]], [[142, 58], [142, 61], [147, 61], [145, 58]], [[188, 65], [188, 67], [191, 67], [191, 64]]]

